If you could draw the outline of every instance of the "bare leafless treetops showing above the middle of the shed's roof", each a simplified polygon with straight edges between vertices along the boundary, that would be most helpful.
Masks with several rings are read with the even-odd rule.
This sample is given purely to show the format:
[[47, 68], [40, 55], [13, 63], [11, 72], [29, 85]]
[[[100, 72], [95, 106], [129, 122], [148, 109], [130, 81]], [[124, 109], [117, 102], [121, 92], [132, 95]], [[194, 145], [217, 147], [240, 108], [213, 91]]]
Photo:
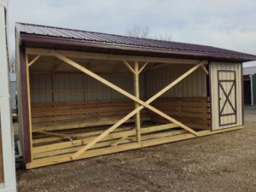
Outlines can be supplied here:
[[153, 38], [157, 40], [163, 41], [171, 41], [172, 35], [170, 33], [158, 34], [158, 35], [150, 35], [150, 30], [148, 26], [134, 26], [133, 28], [127, 30], [125, 32], [127, 36], [134, 38]]

